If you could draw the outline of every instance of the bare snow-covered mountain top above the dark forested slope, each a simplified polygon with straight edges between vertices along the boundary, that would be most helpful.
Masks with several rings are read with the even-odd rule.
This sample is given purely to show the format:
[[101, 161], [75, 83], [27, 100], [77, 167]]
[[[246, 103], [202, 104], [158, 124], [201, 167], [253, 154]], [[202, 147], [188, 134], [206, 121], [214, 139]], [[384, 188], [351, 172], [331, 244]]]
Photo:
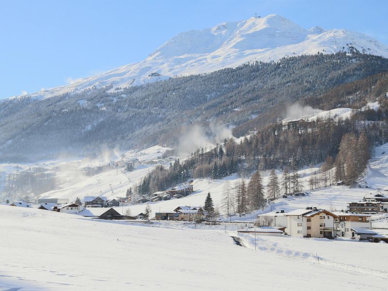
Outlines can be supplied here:
[[275, 14], [225, 22], [201, 31], [179, 33], [145, 60], [124, 65], [69, 85], [31, 94], [50, 97], [112, 84], [113, 89], [159, 81], [172, 76], [207, 73], [248, 61], [272, 61], [286, 56], [359, 51], [388, 57], [388, 47], [358, 32], [301, 28]]

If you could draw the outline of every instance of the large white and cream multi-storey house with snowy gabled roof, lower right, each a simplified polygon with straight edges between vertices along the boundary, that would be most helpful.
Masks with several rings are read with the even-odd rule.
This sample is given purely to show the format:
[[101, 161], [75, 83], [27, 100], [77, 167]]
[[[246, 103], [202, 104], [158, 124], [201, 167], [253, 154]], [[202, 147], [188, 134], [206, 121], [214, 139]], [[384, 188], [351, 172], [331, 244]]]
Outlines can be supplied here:
[[292, 237], [334, 238], [334, 219], [327, 210], [307, 207], [284, 214], [287, 216], [286, 232]]

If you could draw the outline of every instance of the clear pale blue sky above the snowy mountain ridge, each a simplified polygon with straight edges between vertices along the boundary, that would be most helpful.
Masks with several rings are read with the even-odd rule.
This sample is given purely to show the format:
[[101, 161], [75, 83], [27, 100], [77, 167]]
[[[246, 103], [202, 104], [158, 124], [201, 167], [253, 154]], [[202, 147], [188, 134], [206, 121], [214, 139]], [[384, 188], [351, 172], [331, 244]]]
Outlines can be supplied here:
[[0, 98], [145, 59], [179, 32], [279, 14], [388, 45], [388, 0], [1, 0]]

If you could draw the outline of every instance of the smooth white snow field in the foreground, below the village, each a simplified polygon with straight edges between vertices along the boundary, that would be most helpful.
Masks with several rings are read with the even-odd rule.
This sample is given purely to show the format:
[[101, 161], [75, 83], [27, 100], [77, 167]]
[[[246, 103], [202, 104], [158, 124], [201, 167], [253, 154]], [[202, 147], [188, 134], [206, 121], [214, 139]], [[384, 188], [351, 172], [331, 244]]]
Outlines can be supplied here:
[[[0, 233], [0, 290], [386, 290], [381, 274], [255, 252], [219, 230], [131, 226], [0, 206]], [[374, 269], [384, 269], [387, 260], [383, 244], [346, 242], [344, 249], [317, 243], [321, 253], [338, 254], [344, 263], [363, 256], [360, 246]], [[299, 249], [312, 251], [305, 244]], [[341, 255], [344, 250], [349, 255]]]

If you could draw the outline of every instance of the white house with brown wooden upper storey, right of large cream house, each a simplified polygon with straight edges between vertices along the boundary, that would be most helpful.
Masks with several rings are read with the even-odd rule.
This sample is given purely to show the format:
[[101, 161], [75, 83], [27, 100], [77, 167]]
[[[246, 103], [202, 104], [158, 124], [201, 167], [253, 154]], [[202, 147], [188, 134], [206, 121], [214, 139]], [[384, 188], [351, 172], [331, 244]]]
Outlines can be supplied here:
[[364, 239], [364, 235], [359, 235], [357, 230], [371, 230], [372, 224], [368, 222], [368, 218], [372, 215], [350, 212], [333, 212], [338, 218], [334, 219], [335, 237], [346, 237], [353, 239]]

